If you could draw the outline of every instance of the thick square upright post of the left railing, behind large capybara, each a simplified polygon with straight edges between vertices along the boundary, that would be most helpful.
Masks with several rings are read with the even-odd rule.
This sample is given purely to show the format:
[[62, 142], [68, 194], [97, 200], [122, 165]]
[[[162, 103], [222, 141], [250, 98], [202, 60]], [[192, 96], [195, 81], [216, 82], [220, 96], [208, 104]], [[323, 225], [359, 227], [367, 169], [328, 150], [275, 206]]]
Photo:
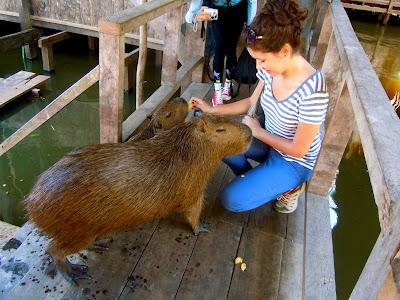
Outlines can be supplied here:
[[116, 143], [122, 133], [124, 37], [101, 33], [99, 45], [100, 143]]

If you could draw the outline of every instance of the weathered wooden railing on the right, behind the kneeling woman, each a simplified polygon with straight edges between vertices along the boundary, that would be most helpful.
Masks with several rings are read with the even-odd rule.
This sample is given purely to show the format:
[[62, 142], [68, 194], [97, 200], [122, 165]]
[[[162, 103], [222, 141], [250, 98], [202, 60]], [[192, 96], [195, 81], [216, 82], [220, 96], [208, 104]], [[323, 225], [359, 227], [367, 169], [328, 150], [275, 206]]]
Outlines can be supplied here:
[[381, 233], [351, 299], [398, 297], [400, 120], [339, 0], [333, 0], [328, 6], [312, 61], [325, 74], [331, 99], [328, 126], [308, 191], [327, 195], [356, 124], [378, 207]]

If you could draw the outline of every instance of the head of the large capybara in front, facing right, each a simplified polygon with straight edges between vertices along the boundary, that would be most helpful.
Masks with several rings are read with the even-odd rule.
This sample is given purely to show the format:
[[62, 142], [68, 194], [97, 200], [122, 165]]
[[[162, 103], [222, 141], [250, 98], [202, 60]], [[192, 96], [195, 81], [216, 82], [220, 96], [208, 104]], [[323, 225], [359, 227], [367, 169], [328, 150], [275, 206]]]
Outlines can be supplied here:
[[204, 135], [208, 142], [218, 145], [213, 147], [222, 151], [222, 156], [243, 153], [251, 142], [250, 128], [227, 117], [203, 114], [194, 120], [199, 134]]

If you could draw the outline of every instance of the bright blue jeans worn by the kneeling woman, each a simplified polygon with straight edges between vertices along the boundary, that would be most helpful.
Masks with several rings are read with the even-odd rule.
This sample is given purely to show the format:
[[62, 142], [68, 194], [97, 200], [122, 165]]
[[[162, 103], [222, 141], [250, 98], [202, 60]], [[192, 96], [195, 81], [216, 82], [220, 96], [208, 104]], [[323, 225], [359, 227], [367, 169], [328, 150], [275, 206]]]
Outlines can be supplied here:
[[[248, 158], [260, 165], [252, 168]], [[220, 195], [224, 207], [232, 212], [250, 210], [274, 200], [307, 181], [312, 174], [312, 170], [285, 160], [275, 149], [255, 138], [247, 152], [226, 157], [224, 162], [237, 175]]]

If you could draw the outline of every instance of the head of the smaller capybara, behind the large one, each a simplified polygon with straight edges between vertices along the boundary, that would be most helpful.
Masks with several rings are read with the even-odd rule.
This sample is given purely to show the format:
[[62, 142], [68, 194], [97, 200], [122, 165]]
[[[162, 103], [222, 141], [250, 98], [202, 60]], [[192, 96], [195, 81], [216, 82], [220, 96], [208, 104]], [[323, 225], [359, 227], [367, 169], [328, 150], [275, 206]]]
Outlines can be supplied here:
[[168, 130], [183, 123], [188, 114], [188, 103], [183, 98], [174, 98], [158, 109], [151, 117], [155, 133]]

